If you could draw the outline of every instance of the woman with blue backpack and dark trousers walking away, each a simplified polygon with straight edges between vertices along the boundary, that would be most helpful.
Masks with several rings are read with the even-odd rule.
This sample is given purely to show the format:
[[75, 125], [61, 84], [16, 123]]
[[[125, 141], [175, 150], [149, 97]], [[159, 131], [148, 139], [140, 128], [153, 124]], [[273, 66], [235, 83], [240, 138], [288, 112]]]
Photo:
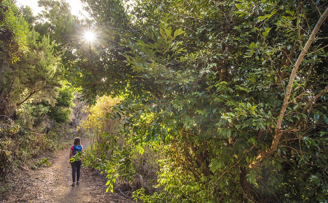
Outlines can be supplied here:
[[[71, 146], [71, 151], [70, 151], [70, 159], [76, 154], [76, 152], [83, 152], [83, 146], [81, 145], [81, 139], [76, 137], [74, 139], [74, 145]], [[79, 185], [80, 182], [80, 169], [81, 169], [81, 164], [82, 164], [82, 158], [79, 161], [74, 161], [70, 164], [72, 165], [72, 178], [73, 178], [73, 183], [72, 186], [75, 186], [75, 173], [76, 173], [76, 185]]]

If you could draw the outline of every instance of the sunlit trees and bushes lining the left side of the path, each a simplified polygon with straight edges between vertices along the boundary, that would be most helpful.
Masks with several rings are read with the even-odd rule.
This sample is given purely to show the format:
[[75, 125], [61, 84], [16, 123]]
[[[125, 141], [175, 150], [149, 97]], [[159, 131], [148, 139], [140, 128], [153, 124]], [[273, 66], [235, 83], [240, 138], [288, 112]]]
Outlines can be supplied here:
[[57, 135], [69, 121], [74, 89], [63, 86], [54, 40], [35, 31], [36, 19], [29, 7], [0, 2], [1, 180], [16, 164], [53, 151], [69, 131]]

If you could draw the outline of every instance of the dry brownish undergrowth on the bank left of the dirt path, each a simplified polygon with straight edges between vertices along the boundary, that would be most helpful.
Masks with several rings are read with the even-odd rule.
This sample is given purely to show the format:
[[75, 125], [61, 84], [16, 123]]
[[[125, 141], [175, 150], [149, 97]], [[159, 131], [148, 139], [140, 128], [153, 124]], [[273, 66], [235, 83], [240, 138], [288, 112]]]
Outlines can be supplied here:
[[[0, 181], [5, 180], [13, 168], [26, 160], [39, 158], [69, 146], [74, 136], [74, 130], [68, 125], [57, 125], [47, 132], [44, 128], [22, 127], [11, 119], [0, 121]], [[44, 162], [45, 159], [39, 160], [41, 165], [50, 165], [47, 160]], [[38, 165], [39, 163], [35, 163], [30, 167], [35, 169]]]

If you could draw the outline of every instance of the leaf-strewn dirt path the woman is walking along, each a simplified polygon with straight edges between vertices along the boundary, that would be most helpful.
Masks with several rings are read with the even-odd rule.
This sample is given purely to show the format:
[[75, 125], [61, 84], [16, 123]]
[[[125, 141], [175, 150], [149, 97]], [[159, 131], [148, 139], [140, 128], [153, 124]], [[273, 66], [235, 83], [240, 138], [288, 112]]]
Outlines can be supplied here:
[[[87, 145], [85, 142], [84, 148], [87, 148]], [[81, 168], [80, 185], [72, 187], [69, 152], [70, 148], [56, 151], [55, 155], [49, 158], [51, 167], [40, 167], [36, 170], [21, 167], [22, 169], [10, 174], [10, 189], [1, 194], [0, 202], [135, 202], [119, 194], [106, 193], [107, 179], [88, 169]]]

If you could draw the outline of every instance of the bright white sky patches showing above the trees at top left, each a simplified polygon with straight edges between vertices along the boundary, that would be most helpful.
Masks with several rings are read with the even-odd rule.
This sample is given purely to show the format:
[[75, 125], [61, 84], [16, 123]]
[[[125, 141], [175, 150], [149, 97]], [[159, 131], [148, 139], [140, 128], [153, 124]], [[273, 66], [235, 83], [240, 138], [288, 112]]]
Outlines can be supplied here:
[[[38, 0], [16, 0], [16, 5], [20, 6], [29, 6], [32, 8], [33, 15], [37, 15], [42, 8], [38, 7]], [[82, 12], [83, 15], [88, 16], [88, 13], [85, 12], [82, 8], [82, 3], [80, 0], [66, 0], [71, 5], [71, 11], [73, 15], [78, 16], [79, 18], [83, 18], [79, 12]]]

